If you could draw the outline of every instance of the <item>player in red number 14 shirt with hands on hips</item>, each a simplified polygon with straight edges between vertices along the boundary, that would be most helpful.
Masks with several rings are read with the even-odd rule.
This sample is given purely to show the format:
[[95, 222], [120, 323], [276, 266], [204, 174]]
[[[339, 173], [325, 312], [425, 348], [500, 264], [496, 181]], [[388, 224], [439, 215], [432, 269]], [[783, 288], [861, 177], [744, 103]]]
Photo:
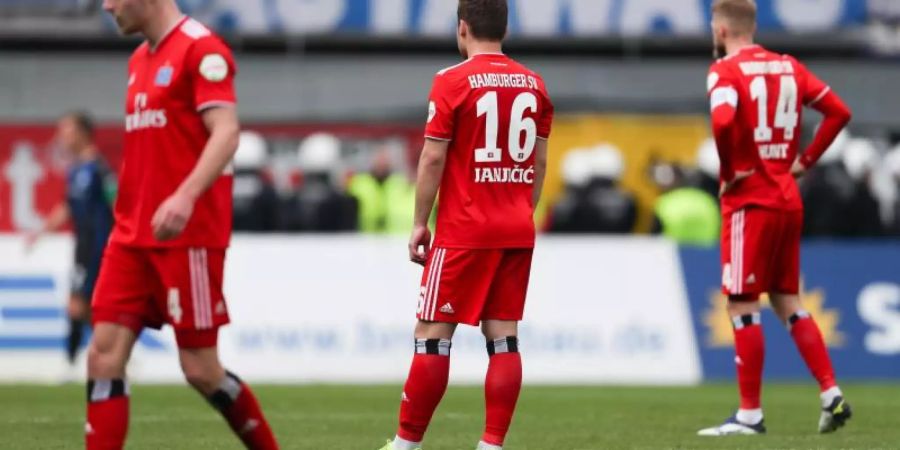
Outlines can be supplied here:
[[[825, 83], [788, 55], [753, 43], [752, 0], [713, 3], [717, 56], [709, 72], [712, 128], [721, 159], [722, 285], [734, 325], [740, 409], [701, 435], [765, 432], [760, 404], [764, 359], [759, 296], [790, 330], [819, 383], [819, 431], [840, 428], [851, 412], [834, 377], [822, 333], [803, 309], [800, 234], [803, 204], [796, 177], [825, 152], [850, 121], [850, 110]], [[812, 143], [799, 153], [803, 107], [823, 114]]]

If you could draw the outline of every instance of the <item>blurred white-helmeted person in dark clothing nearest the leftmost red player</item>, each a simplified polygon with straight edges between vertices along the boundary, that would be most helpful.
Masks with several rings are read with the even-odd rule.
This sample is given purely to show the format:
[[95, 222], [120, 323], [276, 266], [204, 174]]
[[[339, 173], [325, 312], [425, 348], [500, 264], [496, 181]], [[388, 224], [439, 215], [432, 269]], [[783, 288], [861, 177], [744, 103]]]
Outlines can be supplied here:
[[234, 230], [275, 231], [279, 225], [278, 194], [266, 172], [268, 146], [252, 131], [241, 133], [234, 155]]

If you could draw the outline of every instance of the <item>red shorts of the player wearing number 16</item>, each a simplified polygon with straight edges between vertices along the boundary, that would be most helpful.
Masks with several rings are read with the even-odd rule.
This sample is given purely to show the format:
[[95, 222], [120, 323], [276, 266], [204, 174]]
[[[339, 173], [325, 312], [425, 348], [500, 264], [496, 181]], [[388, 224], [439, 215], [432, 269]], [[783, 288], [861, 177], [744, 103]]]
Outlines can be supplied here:
[[422, 274], [416, 317], [478, 325], [522, 320], [532, 249], [434, 248]]

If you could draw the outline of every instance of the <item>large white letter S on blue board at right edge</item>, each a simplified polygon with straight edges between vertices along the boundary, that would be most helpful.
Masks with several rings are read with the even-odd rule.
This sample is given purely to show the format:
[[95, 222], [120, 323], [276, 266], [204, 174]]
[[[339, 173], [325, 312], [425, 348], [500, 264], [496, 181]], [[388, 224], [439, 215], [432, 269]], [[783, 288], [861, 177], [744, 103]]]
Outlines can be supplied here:
[[856, 307], [872, 327], [866, 333], [866, 350], [878, 355], [900, 354], [900, 285], [870, 284], [860, 292]]

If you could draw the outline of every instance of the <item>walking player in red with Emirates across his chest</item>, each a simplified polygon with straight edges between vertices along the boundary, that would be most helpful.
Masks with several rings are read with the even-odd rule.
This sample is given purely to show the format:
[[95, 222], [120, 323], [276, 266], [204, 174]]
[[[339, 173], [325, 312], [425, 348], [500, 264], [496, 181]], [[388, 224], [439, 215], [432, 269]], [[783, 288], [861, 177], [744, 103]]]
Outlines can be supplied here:
[[239, 124], [226, 44], [175, 0], [104, 0], [123, 34], [146, 41], [128, 64], [115, 226], [92, 302], [86, 446], [120, 449], [128, 429], [125, 365], [144, 327], [175, 329], [185, 378], [247, 448], [278, 445], [250, 388], [226, 371], [218, 328], [231, 234]]

